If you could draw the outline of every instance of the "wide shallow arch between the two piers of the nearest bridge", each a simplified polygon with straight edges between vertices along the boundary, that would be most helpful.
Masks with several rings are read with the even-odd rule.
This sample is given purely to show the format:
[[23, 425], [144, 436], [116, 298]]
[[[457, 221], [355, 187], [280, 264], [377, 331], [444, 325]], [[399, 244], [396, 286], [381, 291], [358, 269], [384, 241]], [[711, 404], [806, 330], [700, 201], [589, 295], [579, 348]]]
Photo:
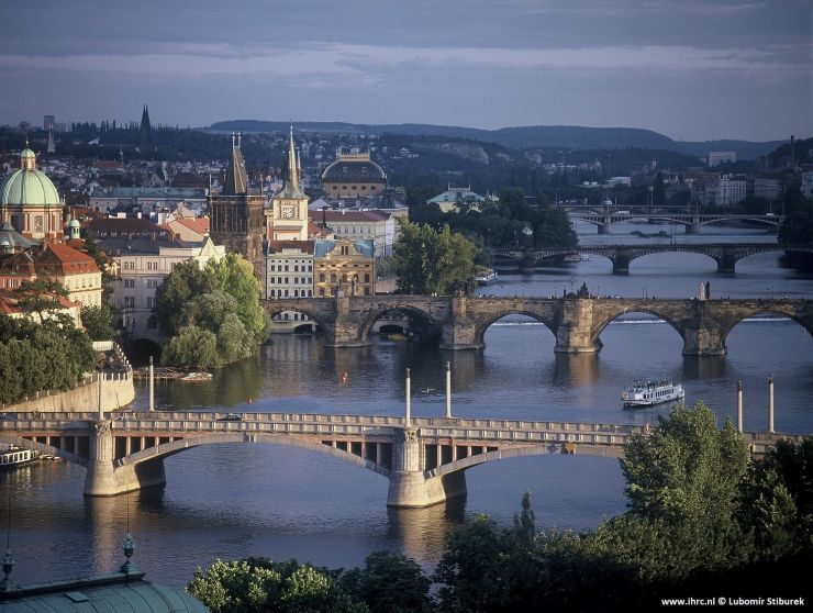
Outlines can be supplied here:
[[156, 460], [158, 458], [166, 458], [194, 447], [202, 445], [219, 445], [229, 443], [261, 443], [261, 444], [274, 444], [285, 445], [288, 447], [300, 447], [309, 449], [311, 452], [318, 452], [327, 456], [342, 459], [344, 461], [360, 466], [374, 472], [377, 472], [383, 477], [390, 476], [389, 469], [381, 465], [378, 465], [371, 460], [364, 459], [355, 454], [331, 447], [320, 441], [313, 438], [302, 438], [298, 436], [280, 436], [278, 434], [263, 434], [263, 433], [214, 433], [204, 434], [201, 436], [193, 436], [188, 438], [179, 438], [169, 443], [163, 443], [154, 447], [148, 447], [136, 452], [123, 458], [115, 460], [116, 468], [125, 466], [137, 466], [142, 462]]

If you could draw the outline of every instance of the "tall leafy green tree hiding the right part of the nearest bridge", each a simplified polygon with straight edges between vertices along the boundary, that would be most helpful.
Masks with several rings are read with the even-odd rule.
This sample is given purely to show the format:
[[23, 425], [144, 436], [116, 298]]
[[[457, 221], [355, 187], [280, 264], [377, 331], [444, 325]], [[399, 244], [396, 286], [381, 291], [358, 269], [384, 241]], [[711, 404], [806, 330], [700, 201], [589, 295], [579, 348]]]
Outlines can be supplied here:
[[658, 422], [651, 435], [633, 435], [624, 445], [630, 513], [670, 540], [676, 570], [733, 565], [744, 555], [734, 519], [748, 466], [743, 435], [727, 419], [719, 431], [702, 402], [693, 409], [676, 404]]

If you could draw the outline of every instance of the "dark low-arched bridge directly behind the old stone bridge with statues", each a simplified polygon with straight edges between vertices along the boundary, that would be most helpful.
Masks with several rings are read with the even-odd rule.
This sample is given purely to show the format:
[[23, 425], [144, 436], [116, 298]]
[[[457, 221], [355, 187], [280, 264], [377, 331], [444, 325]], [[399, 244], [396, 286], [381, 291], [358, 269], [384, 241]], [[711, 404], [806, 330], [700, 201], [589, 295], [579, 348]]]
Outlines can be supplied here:
[[520, 268], [532, 269], [548, 258], [571, 254], [598, 255], [608, 258], [613, 265], [613, 275], [630, 272], [630, 264], [639, 257], [661, 253], [691, 253], [709, 256], [717, 263], [717, 272], [733, 274], [738, 260], [756, 254], [767, 253], [813, 253], [812, 245], [782, 246], [777, 243], [717, 243], [717, 244], [653, 244], [653, 245], [597, 245], [579, 247], [495, 247], [491, 249], [495, 258], [517, 263]]

